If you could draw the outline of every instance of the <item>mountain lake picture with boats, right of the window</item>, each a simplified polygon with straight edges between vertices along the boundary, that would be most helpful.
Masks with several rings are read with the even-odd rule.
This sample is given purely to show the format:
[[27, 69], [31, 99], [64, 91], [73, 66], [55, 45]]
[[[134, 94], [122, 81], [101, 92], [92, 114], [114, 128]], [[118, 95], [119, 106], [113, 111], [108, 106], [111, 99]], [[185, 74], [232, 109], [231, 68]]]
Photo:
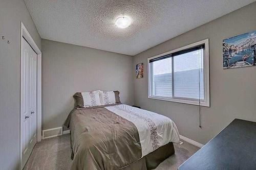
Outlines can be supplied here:
[[223, 68], [256, 65], [256, 31], [223, 40]]

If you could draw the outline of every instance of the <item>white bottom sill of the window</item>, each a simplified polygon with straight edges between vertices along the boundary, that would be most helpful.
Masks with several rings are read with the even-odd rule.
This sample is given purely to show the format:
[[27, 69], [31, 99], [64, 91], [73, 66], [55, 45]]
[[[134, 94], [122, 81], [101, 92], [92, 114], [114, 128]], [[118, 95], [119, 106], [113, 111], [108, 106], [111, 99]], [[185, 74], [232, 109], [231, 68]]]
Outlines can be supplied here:
[[[188, 100], [182, 100], [182, 99], [164, 98], [164, 97], [158, 97], [158, 96], [147, 96], [147, 98], [148, 99], [155, 99], [155, 100], [161, 100], [161, 101], [184, 103], [184, 104], [199, 106], [199, 102], [197, 102], [197, 101], [188, 101]], [[210, 104], [206, 103], [206, 102], [200, 102], [200, 106], [210, 107]]]

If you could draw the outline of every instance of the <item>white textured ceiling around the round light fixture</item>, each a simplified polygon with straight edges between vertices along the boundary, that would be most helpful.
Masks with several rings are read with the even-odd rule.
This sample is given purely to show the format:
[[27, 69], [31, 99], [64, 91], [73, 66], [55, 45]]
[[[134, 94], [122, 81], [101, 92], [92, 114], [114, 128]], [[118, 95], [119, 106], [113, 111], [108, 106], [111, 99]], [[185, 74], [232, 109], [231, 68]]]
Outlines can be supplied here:
[[[24, 0], [41, 38], [136, 55], [254, 0]], [[115, 26], [129, 16], [129, 28]]]

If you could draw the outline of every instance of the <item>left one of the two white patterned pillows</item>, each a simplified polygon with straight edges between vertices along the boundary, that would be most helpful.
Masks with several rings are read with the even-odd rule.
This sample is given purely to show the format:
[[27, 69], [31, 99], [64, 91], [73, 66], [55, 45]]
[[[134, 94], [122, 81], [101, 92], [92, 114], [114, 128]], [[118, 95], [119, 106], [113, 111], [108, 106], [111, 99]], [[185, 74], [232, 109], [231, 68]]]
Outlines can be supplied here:
[[83, 107], [100, 106], [99, 90], [90, 92], [81, 92]]

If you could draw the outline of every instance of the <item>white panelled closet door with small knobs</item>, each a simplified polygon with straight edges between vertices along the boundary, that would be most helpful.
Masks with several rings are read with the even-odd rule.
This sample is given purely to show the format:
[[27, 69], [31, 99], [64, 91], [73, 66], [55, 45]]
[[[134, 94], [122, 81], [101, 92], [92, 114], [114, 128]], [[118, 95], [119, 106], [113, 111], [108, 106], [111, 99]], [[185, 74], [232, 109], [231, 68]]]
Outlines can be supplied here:
[[22, 58], [20, 62], [20, 109], [22, 113], [21, 141], [23, 168], [37, 141], [37, 54], [24, 38], [22, 39]]

